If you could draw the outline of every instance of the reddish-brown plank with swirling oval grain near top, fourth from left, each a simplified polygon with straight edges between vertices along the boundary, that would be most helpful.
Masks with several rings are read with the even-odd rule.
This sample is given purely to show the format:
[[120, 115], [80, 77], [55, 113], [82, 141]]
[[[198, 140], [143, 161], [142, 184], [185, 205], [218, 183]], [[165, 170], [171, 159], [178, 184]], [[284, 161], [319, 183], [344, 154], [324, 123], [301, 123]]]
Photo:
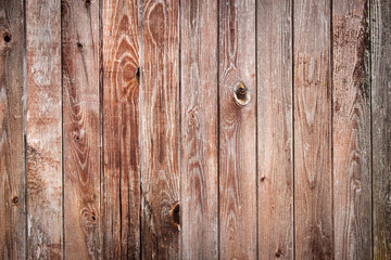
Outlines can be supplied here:
[[140, 258], [138, 1], [103, 2], [103, 258]]

